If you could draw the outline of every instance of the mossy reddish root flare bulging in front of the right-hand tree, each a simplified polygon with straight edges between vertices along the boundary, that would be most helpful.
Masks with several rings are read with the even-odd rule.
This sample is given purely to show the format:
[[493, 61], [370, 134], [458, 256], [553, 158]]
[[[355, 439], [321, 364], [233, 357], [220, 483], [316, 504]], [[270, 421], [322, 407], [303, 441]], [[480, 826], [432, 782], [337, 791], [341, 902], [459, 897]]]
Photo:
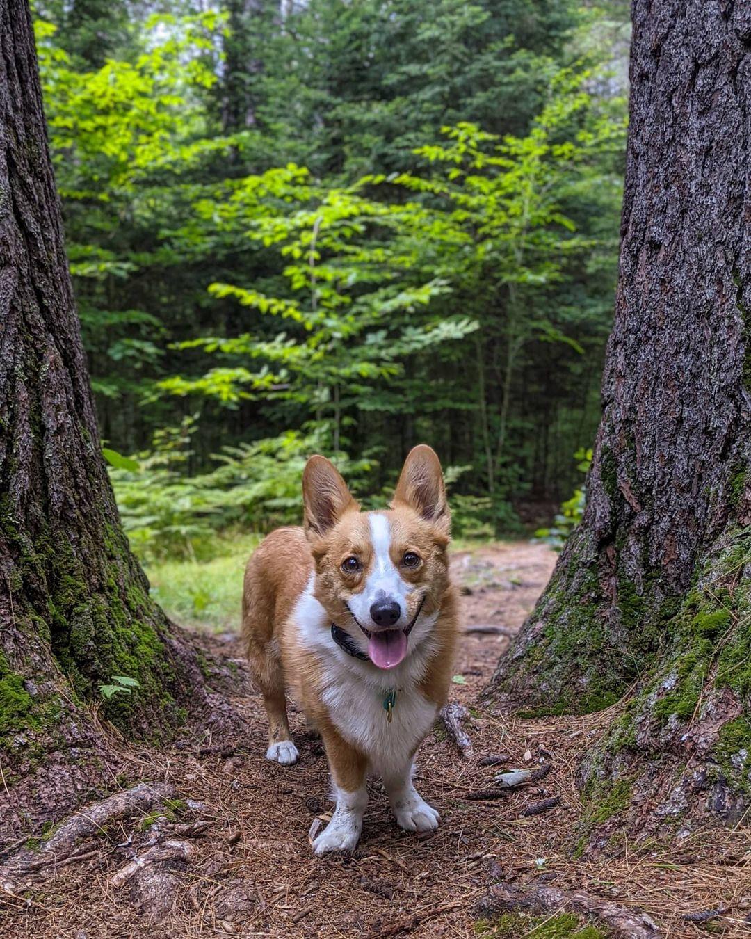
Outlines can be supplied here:
[[667, 647], [580, 768], [580, 847], [738, 824], [751, 807], [751, 528], [704, 559]]

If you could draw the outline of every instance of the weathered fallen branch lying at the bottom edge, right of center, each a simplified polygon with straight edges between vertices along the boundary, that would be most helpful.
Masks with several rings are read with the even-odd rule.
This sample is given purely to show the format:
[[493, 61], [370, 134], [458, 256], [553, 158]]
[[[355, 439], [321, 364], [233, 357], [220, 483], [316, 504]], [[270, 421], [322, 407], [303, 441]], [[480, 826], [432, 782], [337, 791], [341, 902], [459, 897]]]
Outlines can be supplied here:
[[601, 900], [581, 890], [560, 890], [555, 886], [534, 885], [529, 890], [511, 884], [490, 888], [478, 903], [481, 916], [513, 913], [576, 913], [603, 923], [615, 939], [653, 939], [662, 931], [646, 913], [629, 910], [618, 903]]

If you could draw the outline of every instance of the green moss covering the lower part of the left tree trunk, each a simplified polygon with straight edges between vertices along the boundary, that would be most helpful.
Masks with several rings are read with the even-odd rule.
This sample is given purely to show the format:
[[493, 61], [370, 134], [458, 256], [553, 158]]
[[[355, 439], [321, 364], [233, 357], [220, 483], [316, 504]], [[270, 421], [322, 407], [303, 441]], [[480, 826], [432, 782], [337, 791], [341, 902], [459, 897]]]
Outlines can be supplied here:
[[[122, 531], [105, 525], [96, 539], [75, 546], [66, 532], [47, 528], [32, 545], [0, 501], [0, 525], [18, 561], [12, 590], [16, 622], [49, 642], [69, 680], [74, 701], [100, 701], [102, 714], [121, 728], [142, 725], [152, 737], [179, 726], [185, 710], [176, 700], [179, 677], [166, 647], [169, 626], [150, 600], [148, 585]], [[130, 695], [104, 700], [100, 685], [113, 675], [136, 679]], [[29, 675], [28, 678], [37, 676]], [[54, 718], [49, 701], [32, 698], [24, 676], [2, 674], [0, 733], [23, 731]]]

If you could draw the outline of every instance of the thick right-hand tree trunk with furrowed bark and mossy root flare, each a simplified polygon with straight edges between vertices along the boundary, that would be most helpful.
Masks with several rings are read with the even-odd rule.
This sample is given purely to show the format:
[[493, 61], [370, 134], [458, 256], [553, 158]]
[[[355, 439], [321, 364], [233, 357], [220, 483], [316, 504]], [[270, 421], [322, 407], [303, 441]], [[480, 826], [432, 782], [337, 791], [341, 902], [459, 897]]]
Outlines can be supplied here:
[[751, 793], [751, 8], [635, 0], [633, 21], [587, 508], [487, 696], [560, 714], [631, 692], [583, 782], [646, 836]]

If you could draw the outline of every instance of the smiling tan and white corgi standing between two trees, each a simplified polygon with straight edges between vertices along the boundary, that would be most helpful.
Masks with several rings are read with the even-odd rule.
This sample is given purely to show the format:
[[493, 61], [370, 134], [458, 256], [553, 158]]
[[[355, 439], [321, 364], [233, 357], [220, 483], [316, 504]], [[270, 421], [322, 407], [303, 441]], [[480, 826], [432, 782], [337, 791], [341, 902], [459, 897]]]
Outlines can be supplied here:
[[281, 528], [245, 571], [242, 635], [268, 715], [268, 760], [298, 760], [285, 689], [319, 731], [336, 808], [314, 853], [352, 851], [380, 776], [406, 831], [437, 827], [412, 784], [415, 751], [445, 702], [457, 635], [451, 518], [437, 455], [415, 447], [391, 508], [361, 512], [338, 470], [312, 456], [302, 528]]

